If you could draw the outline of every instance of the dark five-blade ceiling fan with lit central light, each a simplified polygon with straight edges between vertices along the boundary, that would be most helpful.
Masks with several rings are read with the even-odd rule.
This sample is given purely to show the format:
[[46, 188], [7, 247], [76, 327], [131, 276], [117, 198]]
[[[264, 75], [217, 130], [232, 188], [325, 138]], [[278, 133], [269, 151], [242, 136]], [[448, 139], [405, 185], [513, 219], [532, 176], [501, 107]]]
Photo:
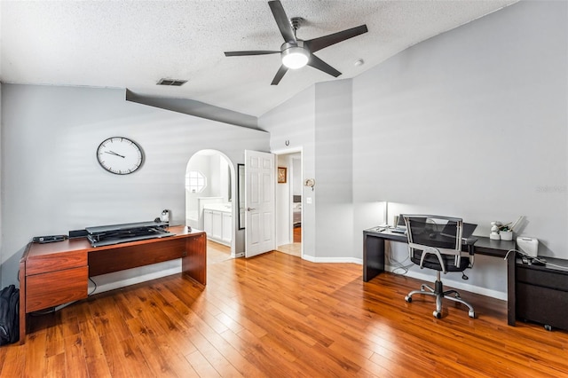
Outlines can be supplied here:
[[367, 33], [368, 31], [367, 25], [361, 25], [356, 28], [346, 29], [334, 34], [304, 41], [296, 38], [296, 30], [300, 28], [303, 19], [296, 17], [288, 20], [288, 16], [286, 15], [286, 12], [284, 12], [284, 7], [279, 0], [269, 1], [268, 5], [272, 11], [274, 20], [276, 20], [276, 24], [280, 29], [280, 34], [284, 37], [284, 43], [280, 46], [280, 50], [225, 51], [225, 56], [240, 57], [245, 55], [280, 53], [282, 65], [274, 76], [274, 79], [272, 79], [272, 85], [278, 85], [278, 83], [280, 83], [280, 80], [284, 74], [286, 74], [288, 68], [296, 69], [304, 67], [305, 65], [317, 68], [334, 77], [341, 75], [341, 72], [337, 71], [334, 67], [329, 66], [326, 62], [313, 55], [313, 53], [321, 49], [325, 49], [327, 46], [331, 46], [332, 44], [340, 43], [354, 36]]

